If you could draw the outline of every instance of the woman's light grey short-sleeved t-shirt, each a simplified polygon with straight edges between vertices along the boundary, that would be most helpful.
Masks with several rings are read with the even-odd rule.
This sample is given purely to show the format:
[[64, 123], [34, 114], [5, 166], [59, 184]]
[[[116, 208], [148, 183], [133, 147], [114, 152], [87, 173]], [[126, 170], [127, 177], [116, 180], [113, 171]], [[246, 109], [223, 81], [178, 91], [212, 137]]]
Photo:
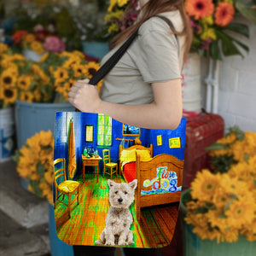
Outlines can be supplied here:
[[[178, 10], [161, 15], [171, 20], [177, 31], [183, 30]], [[165, 20], [152, 17], [145, 21], [125, 55], [104, 78], [102, 100], [130, 105], [154, 102], [151, 83], [181, 78], [184, 37], [178, 40], [180, 49]], [[102, 65], [117, 49], [104, 56]]]

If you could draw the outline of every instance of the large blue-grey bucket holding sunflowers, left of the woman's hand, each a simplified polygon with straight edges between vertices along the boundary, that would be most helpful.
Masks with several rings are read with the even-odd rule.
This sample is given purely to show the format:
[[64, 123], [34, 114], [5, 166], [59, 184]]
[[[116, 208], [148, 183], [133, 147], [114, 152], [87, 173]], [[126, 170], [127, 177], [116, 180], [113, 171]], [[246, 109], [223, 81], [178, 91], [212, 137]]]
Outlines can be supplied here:
[[55, 113], [72, 112], [75, 108], [70, 103], [28, 103], [15, 102], [15, 124], [17, 146], [21, 148], [26, 139], [39, 131], [55, 129]]

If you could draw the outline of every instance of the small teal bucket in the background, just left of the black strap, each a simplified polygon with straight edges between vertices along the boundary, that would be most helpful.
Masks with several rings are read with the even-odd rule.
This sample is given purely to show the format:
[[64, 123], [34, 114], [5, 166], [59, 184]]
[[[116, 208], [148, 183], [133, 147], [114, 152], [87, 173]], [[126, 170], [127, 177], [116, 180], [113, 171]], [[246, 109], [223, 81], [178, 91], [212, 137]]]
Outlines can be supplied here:
[[83, 42], [83, 51], [85, 55], [102, 60], [103, 56], [108, 54], [109, 45], [104, 42]]

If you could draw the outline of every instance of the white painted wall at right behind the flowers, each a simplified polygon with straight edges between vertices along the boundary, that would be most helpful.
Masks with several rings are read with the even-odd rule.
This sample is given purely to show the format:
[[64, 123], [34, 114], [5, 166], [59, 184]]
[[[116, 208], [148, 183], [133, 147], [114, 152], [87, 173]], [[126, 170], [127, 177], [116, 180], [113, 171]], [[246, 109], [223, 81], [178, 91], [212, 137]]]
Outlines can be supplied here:
[[[240, 18], [249, 26], [250, 38], [238, 38], [247, 44], [250, 51], [225, 57], [220, 62], [218, 114], [224, 118], [225, 131], [238, 125], [243, 131], [256, 131], [256, 26]], [[203, 60], [205, 66], [206, 61]], [[203, 78], [207, 70], [203, 70]], [[205, 88], [202, 88], [202, 104], [205, 106]]]

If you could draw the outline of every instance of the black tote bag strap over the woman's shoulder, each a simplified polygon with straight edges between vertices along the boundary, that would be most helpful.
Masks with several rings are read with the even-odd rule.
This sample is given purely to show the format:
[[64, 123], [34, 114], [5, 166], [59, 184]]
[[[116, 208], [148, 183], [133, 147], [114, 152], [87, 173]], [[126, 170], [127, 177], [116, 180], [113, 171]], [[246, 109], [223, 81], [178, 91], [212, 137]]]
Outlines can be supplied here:
[[[167, 19], [164, 16], [160, 16], [160, 15], [154, 15], [149, 17], [148, 19], [152, 18], [152, 17], [159, 17], [162, 20], [165, 20], [167, 22], [167, 24], [171, 27], [171, 29], [174, 29], [174, 26], [172, 24], [172, 21]], [[131, 45], [131, 43], [133, 42], [133, 40], [135, 38], [137, 38], [137, 34], [138, 34], [139, 28], [137, 29], [136, 32], [134, 32], [130, 38], [128, 38], [124, 44], [122, 44], [119, 49], [117, 49], [117, 51], [108, 59], [108, 61], [106, 61], [102, 67], [100, 67], [100, 69], [94, 74], [94, 76], [90, 79], [89, 84], [91, 85], [96, 85], [98, 84], [109, 72], [110, 70], [115, 66], [115, 64], [119, 61], [119, 59], [125, 54], [126, 49], [129, 48], [129, 46]], [[178, 38], [177, 35], [175, 35], [175, 38], [177, 39], [177, 44], [178, 44]], [[179, 44], [178, 44], [178, 50], [179, 50]], [[76, 112], [78, 112], [79, 110], [76, 108]]]

